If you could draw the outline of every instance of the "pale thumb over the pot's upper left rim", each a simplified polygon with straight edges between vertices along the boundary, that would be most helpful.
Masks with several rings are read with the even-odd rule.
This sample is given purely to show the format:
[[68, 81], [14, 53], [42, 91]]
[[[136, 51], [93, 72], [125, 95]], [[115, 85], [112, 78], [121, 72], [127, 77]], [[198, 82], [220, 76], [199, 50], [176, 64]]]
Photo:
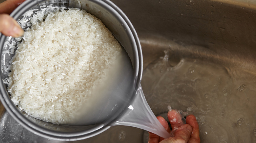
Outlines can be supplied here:
[[5, 36], [19, 37], [24, 34], [20, 25], [8, 14], [0, 14], [0, 32]]

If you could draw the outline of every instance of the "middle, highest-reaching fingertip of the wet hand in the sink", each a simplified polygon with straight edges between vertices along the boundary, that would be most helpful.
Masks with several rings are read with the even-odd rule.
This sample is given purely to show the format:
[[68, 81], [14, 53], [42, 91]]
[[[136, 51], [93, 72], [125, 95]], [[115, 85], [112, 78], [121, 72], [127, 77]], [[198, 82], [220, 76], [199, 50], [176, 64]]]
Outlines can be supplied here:
[[170, 124], [172, 126], [172, 130], [179, 128], [184, 123], [182, 122], [181, 114], [176, 110], [171, 110], [167, 114]]

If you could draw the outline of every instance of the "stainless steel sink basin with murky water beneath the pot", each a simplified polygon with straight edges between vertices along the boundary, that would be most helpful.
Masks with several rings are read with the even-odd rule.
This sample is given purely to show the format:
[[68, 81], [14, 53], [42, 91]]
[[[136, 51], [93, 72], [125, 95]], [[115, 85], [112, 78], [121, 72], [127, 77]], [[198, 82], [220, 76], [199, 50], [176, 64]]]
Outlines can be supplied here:
[[[194, 114], [202, 142], [256, 142], [256, 2], [112, 0], [130, 19], [143, 53], [142, 89], [156, 116]], [[61, 143], [19, 125], [0, 104], [0, 142]], [[79, 142], [147, 142], [113, 126]]]

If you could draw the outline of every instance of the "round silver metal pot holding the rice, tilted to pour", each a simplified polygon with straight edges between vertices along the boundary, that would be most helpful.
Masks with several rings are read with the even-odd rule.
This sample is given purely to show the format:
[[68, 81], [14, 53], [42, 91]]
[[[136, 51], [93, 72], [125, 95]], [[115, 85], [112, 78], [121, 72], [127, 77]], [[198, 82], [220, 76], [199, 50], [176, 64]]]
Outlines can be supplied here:
[[[112, 102], [105, 101], [105, 103], [103, 103], [105, 104], [105, 108], [103, 109], [104, 112], [99, 112], [99, 110], [102, 109], [95, 110], [95, 114], [97, 114], [96, 116], [99, 120], [90, 122], [86, 125], [57, 125], [28, 116], [11, 102], [10, 95], [7, 93], [7, 88], [3, 83], [3, 80], [0, 82], [0, 99], [12, 118], [37, 135], [59, 140], [79, 140], [88, 138], [110, 128], [133, 101], [135, 91], [138, 89], [142, 76], [142, 53], [139, 39], [133, 25], [126, 15], [109, 0], [28, 0], [16, 8], [11, 13], [11, 16], [17, 20], [21, 18], [26, 11], [34, 8], [40, 9], [40, 6], [49, 4], [59, 7], [84, 9], [99, 18], [128, 53], [133, 66], [133, 71], [127, 73], [131, 74], [131, 76], [127, 77], [132, 77], [132, 79], [127, 80], [127, 77], [124, 77], [122, 80], [128, 81], [128, 84], [126, 82], [121, 82], [120, 84], [117, 83], [116, 86], [118, 91], [108, 99]], [[1, 52], [3, 51], [6, 39], [7, 37], [0, 35]], [[13, 55], [1, 54], [1, 69], [11, 60], [12, 56]], [[6, 76], [7, 75], [1, 73], [2, 79]], [[118, 94], [120, 92], [125, 94], [122, 94], [121, 98], [116, 98], [117, 96], [120, 96], [120, 94]], [[113, 102], [113, 100], [115, 100], [115, 102]]]

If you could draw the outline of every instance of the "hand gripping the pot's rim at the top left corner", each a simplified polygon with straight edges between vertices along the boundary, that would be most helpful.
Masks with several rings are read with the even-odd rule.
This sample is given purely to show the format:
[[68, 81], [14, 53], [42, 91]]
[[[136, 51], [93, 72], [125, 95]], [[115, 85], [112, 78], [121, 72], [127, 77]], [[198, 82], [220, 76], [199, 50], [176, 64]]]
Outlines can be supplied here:
[[24, 31], [9, 14], [25, 0], [7, 0], [0, 3], [0, 32], [6, 36], [19, 37]]

